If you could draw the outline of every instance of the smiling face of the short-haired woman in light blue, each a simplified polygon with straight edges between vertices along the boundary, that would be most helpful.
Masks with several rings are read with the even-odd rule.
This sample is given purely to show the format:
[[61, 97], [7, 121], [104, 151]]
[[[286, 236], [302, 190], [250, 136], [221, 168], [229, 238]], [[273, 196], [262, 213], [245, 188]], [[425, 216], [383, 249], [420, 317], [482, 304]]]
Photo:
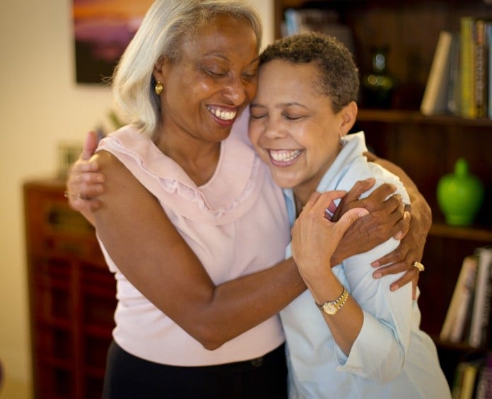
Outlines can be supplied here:
[[[313, 62], [282, 59], [259, 68], [257, 96], [250, 106], [250, 140], [275, 182], [293, 187], [303, 202], [316, 190], [353, 125], [355, 103], [334, 113], [332, 100], [317, 90]], [[355, 108], [354, 108], [355, 107]]]

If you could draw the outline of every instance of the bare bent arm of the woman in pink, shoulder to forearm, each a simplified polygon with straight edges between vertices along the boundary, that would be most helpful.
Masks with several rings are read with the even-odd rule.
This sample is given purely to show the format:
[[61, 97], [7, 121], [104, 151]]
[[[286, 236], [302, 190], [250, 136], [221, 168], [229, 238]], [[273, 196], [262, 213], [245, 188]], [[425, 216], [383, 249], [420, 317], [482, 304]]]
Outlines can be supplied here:
[[94, 218], [107, 252], [136, 289], [207, 349], [274, 316], [305, 290], [292, 259], [215, 286], [156, 197], [111, 154], [95, 158], [106, 176]]

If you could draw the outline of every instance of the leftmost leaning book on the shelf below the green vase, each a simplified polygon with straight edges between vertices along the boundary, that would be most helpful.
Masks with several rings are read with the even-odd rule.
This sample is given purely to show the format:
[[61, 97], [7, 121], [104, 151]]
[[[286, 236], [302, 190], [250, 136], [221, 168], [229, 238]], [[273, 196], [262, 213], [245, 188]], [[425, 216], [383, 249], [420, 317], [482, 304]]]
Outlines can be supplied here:
[[440, 339], [458, 342], [462, 339], [462, 332], [466, 322], [467, 309], [472, 301], [472, 292], [475, 282], [477, 260], [475, 255], [464, 258], [461, 270], [452, 293], [450, 306], [440, 331]]

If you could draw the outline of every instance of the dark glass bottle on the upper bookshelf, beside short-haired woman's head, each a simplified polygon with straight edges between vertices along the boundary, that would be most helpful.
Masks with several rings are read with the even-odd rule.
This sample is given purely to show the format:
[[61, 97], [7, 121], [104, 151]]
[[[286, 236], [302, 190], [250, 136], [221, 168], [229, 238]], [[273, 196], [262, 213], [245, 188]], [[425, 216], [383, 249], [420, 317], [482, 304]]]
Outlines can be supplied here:
[[363, 100], [368, 108], [391, 107], [395, 80], [387, 71], [387, 53], [387, 47], [374, 47], [373, 71], [363, 76]]

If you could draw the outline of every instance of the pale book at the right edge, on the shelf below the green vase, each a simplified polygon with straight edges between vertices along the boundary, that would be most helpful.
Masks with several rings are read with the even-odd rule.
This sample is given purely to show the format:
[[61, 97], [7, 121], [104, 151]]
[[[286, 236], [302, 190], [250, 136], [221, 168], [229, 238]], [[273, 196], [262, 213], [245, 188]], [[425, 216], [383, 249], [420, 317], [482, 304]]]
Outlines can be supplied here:
[[476, 253], [478, 254], [478, 265], [468, 340], [471, 347], [480, 347], [487, 339], [492, 299], [492, 247], [478, 248]]

